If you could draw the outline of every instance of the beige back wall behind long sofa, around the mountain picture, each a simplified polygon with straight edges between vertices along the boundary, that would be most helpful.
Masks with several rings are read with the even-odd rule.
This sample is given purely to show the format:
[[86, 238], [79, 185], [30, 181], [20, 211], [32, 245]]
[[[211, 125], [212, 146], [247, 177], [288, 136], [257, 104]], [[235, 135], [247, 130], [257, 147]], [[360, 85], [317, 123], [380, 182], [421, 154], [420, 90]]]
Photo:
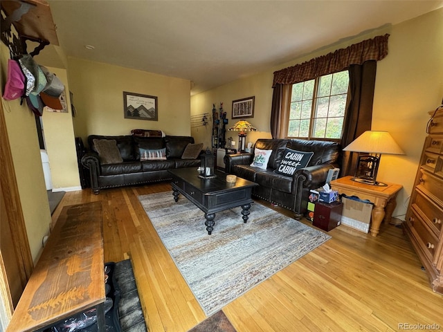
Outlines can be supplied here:
[[[190, 135], [190, 81], [129, 68], [68, 58], [69, 85], [77, 111], [75, 136], [127, 135], [131, 129], [161, 129]], [[159, 120], [125, 119], [123, 91], [158, 98]]]

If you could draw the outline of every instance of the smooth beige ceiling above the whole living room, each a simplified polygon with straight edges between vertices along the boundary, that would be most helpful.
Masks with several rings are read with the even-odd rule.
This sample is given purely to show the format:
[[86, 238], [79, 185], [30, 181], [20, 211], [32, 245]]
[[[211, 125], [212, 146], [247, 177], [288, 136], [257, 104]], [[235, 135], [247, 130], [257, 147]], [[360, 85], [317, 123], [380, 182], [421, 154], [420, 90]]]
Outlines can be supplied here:
[[443, 6], [442, 0], [48, 3], [67, 55], [190, 80], [192, 95]]

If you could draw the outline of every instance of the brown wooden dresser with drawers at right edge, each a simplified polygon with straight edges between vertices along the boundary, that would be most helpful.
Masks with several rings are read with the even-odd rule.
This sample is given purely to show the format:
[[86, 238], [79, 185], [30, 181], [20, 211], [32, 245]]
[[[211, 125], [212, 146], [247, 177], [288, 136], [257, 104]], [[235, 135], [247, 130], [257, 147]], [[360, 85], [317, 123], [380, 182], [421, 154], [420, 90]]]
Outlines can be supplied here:
[[433, 291], [443, 294], [443, 109], [429, 114], [405, 226]]

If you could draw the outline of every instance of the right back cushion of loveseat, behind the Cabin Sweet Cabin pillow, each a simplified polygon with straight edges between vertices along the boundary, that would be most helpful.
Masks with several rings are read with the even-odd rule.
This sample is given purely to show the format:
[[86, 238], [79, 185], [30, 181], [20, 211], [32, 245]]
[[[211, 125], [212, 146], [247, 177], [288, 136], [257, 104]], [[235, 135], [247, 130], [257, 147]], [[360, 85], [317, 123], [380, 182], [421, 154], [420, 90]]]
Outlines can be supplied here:
[[332, 164], [338, 160], [338, 143], [323, 140], [289, 140], [289, 149], [314, 152], [307, 166]]

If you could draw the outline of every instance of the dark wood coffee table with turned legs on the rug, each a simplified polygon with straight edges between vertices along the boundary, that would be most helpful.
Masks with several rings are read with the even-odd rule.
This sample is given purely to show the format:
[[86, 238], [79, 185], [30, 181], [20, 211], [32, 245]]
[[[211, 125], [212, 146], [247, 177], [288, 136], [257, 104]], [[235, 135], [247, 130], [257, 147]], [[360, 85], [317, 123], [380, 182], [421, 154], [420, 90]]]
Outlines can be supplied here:
[[170, 169], [174, 201], [182, 194], [205, 212], [205, 225], [208, 234], [213, 232], [215, 213], [230, 208], [242, 207], [242, 219], [248, 221], [251, 208], [252, 188], [257, 183], [237, 177], [235, 183], [226, 182], [226, 173], [215, 171], [215, 178], [199, 178], [197, 168]]

